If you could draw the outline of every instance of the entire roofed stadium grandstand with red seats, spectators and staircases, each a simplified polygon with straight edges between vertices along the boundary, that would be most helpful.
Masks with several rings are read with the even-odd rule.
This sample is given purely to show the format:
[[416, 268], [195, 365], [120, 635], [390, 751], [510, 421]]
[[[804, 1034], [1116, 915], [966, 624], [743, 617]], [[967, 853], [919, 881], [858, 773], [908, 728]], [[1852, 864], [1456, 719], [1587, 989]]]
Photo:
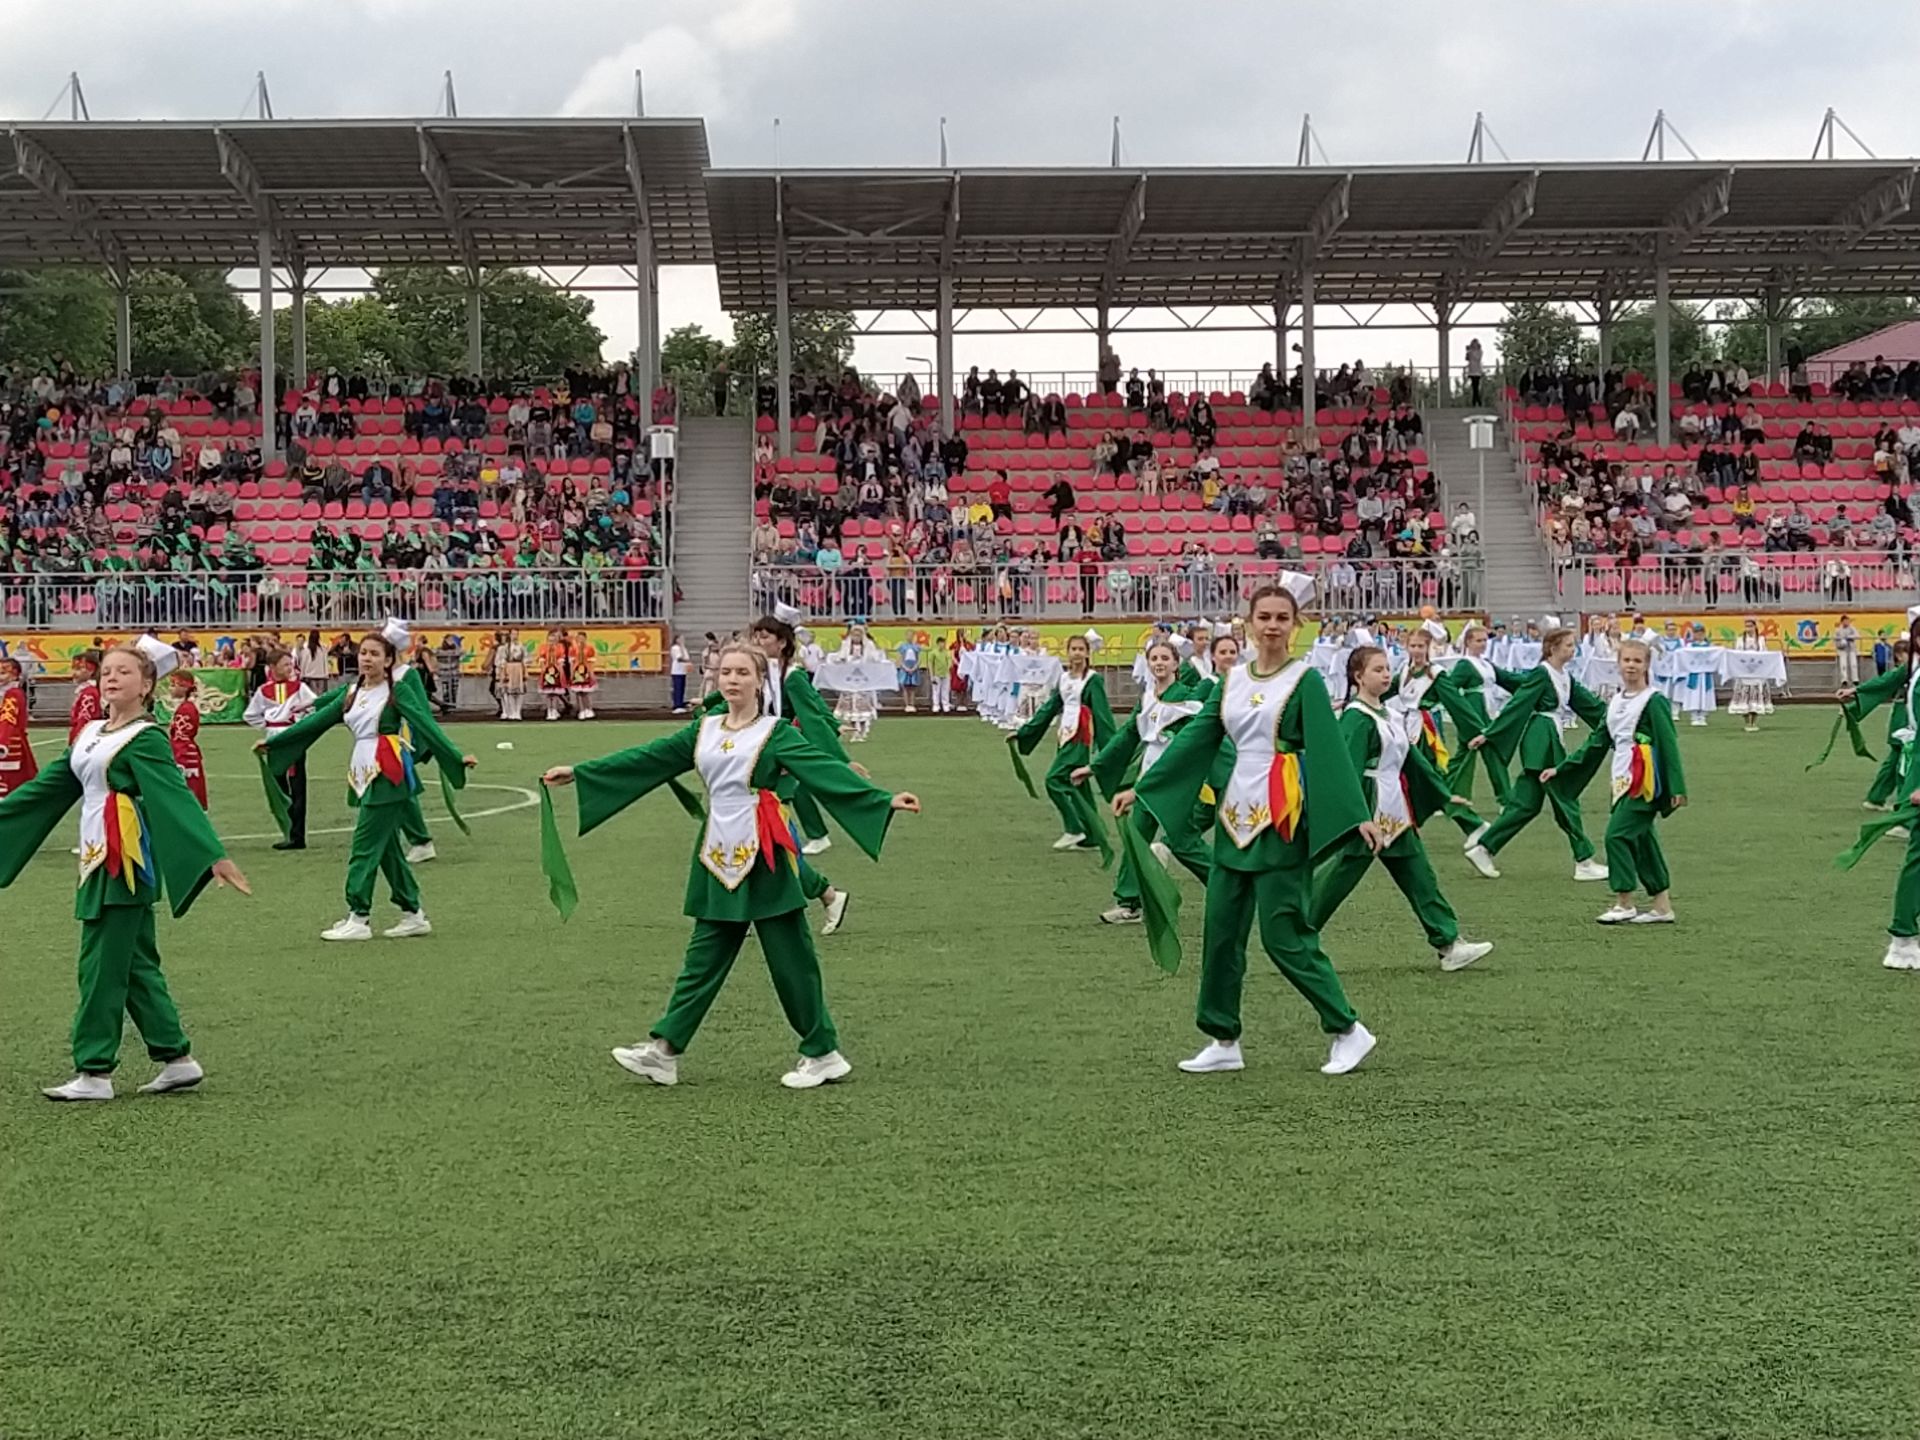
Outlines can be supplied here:
[[[612, 668], [647, 674], [668, 626], [751, 605], [1148, 620], [1223, 612], [1281, 564], [1354, 612], [1893, 605], [1920, 365], [1811, 380], [1789, 321], [1799, 296], [1920, 292], [1914, 175], [728, 171], [697, 119], [23, 123], [0, 140], [0, 265], [104, 267], [119, 372], [6, 367], [0, 609], [67, 636], [616, 626], [645, 636]], [[482, 269], [559, 263], [624, 267], [634, 363], [484, 374]], [[148, 265], [257, 273], [261, 363], [131, 376]], [[376, 265], [467, 278], [465, 372], [309, 371], [311, 276]], [[751, 415], [684, 417], [659, 378], [660, 265], [714, 265], [730, 311], [772, 317]], [[1764, 367], [1674, 374], [1670, 305], [1726, 298], [1764, 307]], [[1642, 372], [1609, 346], [1645, 300]], [[1590, 305], [1596, 363], [1463, 369], [1463, 307], [1521, 301]], [[1440, 367], [1323, 365], [1327, 305], [1419, 307]], [[795, 372], [791, 317], [818, 307], [918, 315], [931, 386]], [[1123, 369], [1123, 319], [1169, 307], [1252, 317], [1273, 363], [1229, 386]], [[956, 374], [956, 324], [1014, 309], [1075, 317], [1091, 382]], [[1492, 451], [1463, 424], [1480, 413]]]

